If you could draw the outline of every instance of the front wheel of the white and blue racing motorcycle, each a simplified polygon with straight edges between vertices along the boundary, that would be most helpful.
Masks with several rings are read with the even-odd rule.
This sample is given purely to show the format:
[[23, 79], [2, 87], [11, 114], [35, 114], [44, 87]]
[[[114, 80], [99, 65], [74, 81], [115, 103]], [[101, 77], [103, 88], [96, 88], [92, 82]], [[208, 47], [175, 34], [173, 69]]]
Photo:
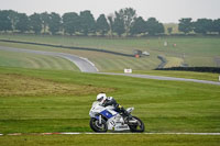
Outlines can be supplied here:
[[108, 131], [107, 122], [101, 120], [101, 124], [99, 124], [99, 120], [91, 117], [90, 127], [92, 131], [97, 133], [106, 133]]

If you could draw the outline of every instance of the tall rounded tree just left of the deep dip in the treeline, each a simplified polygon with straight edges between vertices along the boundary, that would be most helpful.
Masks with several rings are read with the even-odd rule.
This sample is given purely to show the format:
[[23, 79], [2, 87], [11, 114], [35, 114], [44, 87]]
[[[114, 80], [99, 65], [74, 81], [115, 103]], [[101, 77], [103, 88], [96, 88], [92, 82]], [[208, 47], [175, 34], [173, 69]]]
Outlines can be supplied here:
[[80, 32], [84, 33], [84, 35], [88, 35], [88, 33], [95, 33], [96, 21], [91, 12], [88, 10], [82, 11], [80, 12], [79, 16], [80, 16]]

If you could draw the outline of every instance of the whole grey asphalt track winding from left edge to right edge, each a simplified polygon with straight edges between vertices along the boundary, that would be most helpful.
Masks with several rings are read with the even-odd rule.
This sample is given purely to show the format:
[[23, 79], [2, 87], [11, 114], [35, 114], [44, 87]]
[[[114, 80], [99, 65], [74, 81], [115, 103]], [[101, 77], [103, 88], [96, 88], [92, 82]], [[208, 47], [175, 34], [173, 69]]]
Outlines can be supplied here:
[[96, 68], [95, 64], [92, 64], [89, 59], [82, 58], [82, 57], [79, 57], [76, 55], [66, 54], [66, 53], [54, 53], [54, 52], [33, 50], [33, 49], [24, 49], [24, 48], [12, 48], [12, 47], [4, 47], [4, 46], [0, 46], [0, 49], [9, 50], [9, 52], [32, 53], [32, 54], [47, 55], [47, 56], [54, 56], [54, 57], [62, 57], [62, 58], [68, 59], [69, 61], [74, 63], [82, 72], [94, 72], [94, 74], [112, 75], [112, 76], [128, 76], [128, 77], [134, 77], [134, 78], [146, 78], [146, 79], [156, 79], [156, 80], [191, 81], [191, 82], [198, 82], [198, 83], [208, 83], [208, 85], [220, 86], [220, 82], [208, 81], [208, 80], [185, 79], [185, 78], [151, 76], [151, 75], [136, 75], [136, 74], [99, 72], [98, 68]]

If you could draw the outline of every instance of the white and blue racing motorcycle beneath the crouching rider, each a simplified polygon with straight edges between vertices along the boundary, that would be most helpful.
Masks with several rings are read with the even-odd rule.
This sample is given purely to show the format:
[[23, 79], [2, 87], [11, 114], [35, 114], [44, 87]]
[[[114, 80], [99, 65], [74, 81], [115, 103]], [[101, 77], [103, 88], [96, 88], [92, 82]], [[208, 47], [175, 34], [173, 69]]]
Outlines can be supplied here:
[[[127, 109], [128, 113], [134, 108]], [[90, 115], [90, 127], [97, 133], [106, 133], [109, 131], [123, 132], [130, 131], [134, 133], [144, 132], [144, 123], [136, 116], [124, 117], [121, 113], [117, 112], [112, 105], [102, 106], [100, 102], [92, 103]]]

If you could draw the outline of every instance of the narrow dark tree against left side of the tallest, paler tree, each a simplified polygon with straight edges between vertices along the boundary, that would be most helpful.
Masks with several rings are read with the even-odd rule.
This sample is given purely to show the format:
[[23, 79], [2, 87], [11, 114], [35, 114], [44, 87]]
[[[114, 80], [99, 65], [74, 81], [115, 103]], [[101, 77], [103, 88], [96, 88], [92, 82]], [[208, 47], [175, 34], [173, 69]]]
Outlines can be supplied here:
[[118, 12], [116, 12], [112, 31], [116, 32], [119, 36], [121, 36], [125, 32], [123, 18], [121, 18], [120, 13]]

